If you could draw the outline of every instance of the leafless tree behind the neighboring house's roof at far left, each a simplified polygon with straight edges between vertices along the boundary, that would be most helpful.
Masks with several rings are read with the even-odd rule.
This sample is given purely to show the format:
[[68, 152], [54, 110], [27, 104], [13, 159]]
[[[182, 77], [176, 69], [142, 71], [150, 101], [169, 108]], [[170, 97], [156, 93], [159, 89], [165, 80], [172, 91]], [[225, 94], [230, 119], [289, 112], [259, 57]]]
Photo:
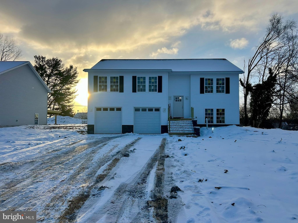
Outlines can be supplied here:
[[15, 40], [0, 33], [0, 61], [15, 61], [22, 56], [22, 50]]

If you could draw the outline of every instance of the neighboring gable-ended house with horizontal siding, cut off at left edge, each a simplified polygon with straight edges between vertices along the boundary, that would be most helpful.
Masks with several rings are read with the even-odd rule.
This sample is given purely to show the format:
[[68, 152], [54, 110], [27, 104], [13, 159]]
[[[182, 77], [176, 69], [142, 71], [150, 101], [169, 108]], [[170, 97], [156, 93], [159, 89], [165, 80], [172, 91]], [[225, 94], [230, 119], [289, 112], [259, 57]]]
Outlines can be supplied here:
[[48, 92], [29, 61], [1, 61], [0, 127], [46, 125]]

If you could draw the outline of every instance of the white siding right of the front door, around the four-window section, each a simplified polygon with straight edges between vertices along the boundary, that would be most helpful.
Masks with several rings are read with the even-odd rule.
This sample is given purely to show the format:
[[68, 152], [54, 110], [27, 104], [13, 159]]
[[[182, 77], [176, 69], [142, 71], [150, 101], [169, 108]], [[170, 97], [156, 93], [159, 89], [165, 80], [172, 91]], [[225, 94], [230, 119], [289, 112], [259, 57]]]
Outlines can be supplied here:
[[[230, 93], [200, 94], [200, 78], [230, 78]], [[205, 109], [213, 109], [213, 124], [239, 125], [239, 75], [229, 72], [199, 73], [191, 75], [191, 107], [198, 124], [205, 124]], [[214, 82], [214, 88], [216, 83]], [[225, 110], [225, 123], [216, 123], [216, 109]]]

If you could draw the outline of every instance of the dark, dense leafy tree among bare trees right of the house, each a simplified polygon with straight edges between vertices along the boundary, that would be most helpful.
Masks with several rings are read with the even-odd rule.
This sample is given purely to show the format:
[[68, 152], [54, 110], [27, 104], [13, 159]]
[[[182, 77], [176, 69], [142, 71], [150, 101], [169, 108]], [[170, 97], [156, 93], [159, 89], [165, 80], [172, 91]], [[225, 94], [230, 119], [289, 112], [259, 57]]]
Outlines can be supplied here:
[[269, 115], [273, 103], [274, 86], [277, 82], [276, 75], [269, 68], [269, 76], [263, 83], [252, 87], [250, 107], [252, 109], [252, 120], [256, 127], [262, 127], [262, 122]]

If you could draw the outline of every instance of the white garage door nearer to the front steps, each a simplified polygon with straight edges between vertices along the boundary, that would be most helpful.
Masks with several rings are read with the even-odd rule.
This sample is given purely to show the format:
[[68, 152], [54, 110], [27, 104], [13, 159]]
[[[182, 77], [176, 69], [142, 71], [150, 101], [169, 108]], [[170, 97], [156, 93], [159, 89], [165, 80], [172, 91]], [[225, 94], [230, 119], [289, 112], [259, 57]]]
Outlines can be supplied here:
[[160, 108], [134, 108], [134, 133], [160, 134]]

